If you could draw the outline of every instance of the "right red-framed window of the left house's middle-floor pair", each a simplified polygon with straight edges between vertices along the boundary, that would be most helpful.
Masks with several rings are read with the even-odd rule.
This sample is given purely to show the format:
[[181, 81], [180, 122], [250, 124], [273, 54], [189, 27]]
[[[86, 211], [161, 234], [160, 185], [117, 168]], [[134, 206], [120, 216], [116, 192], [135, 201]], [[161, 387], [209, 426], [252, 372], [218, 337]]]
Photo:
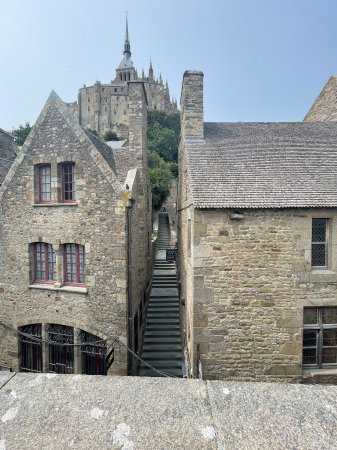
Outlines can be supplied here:
[[64, 248], [64, 284], [84, 284], [84, 246], [65, 244]]

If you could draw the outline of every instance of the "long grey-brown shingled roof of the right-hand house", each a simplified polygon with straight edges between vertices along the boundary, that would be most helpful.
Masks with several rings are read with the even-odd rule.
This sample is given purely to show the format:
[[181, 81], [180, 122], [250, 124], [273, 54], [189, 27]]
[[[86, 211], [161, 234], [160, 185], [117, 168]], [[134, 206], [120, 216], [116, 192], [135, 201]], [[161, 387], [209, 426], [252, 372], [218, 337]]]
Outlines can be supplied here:
[[337, 207], [337, 123], [205, 123], [186, 140], [197, 208]]

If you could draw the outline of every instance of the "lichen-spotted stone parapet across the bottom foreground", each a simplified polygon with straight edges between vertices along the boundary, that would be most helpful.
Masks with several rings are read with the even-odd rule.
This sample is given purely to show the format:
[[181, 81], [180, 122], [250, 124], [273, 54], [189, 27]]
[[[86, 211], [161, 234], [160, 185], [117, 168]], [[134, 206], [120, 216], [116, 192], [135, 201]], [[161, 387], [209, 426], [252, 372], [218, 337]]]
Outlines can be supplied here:
[[336, 405], [336, 386], [0, 373], [0, 448], [328, 450]]

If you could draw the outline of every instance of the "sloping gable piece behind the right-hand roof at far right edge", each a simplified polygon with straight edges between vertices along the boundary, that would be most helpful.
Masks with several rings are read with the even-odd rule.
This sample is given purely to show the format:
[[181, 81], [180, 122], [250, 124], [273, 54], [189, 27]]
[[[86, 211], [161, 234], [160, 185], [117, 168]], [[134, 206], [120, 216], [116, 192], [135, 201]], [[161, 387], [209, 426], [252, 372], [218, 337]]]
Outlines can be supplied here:
[[322, 92], [305, 116], [306, 122], [337, 122], [337, 77], [329, 78]]

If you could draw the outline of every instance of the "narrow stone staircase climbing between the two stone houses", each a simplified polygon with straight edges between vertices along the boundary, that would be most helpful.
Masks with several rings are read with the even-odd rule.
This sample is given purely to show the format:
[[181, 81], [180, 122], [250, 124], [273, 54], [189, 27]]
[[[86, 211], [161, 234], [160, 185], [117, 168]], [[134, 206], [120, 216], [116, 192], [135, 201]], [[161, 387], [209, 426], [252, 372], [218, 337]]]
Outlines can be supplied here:
[[[168, 375], [182, 377], [184, 363], [176, 266], [165, 259], [169, 244], [168, 215], [160, 213], [158, 251], [147, 309], [142, 359]], [[139, 374], [161, 376], [143, 363], [140, 364]]]

